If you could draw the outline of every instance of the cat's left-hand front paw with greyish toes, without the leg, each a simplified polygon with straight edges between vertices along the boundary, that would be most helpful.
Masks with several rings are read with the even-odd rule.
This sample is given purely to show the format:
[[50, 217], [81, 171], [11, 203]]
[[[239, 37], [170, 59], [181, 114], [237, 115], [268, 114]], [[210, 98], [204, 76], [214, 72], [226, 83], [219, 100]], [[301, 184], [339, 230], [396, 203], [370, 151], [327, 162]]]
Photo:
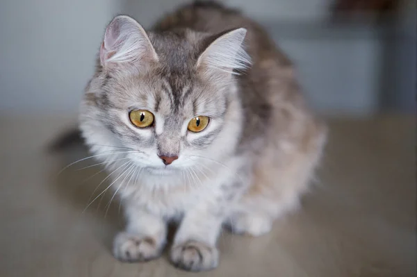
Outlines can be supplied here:
[[113, 255], [122, 262], [146, 262], [161, 255], [163, 245], [152, 237], [119, 233], [113, 242]]

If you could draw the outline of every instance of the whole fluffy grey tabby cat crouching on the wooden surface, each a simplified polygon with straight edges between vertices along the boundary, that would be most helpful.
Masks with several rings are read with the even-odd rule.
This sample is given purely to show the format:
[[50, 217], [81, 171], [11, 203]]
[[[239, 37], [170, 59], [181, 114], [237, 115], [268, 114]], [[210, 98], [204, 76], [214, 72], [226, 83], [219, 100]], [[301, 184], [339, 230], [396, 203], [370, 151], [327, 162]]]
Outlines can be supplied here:
[[[223, 224], [262, 235], [297, 208], [325, 127], [292, 73], [257, 24], [214, 3], [184, 6], [147, 33], [129, 17], [113, 19], [86, 89], [81, 130], [108, 162], [125, 208], [117, 258], [156, 258], [174, 220], [172, 262], [212, 269]], [[133, 126], [131, 110], [152, 112], [153, 125]], [[210, 118], [206, 128], [187, 130], [199, 116]]]

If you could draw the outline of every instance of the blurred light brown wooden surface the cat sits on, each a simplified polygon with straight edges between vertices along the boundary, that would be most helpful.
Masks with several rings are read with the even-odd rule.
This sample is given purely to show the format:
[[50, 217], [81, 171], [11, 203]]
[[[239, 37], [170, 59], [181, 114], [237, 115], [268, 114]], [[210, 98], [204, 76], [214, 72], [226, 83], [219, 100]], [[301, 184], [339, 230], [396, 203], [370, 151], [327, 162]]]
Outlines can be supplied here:
[[[104, 178], [81, 150], [44, 145], [71, 122], [0, 117], [1, 277], [416, 276], [416, 121], [329, 121], [329, 144], [303, 209], [257, 239], [222, 233], [220, 266], [189, 274], [166, 255], [122, 264], [109, 248], [123, 226], [111, 193], [83, 212]], [[92, 176], [91, 178], [89, 178]], [[104, 186], [97, 191], [101, 192]]]

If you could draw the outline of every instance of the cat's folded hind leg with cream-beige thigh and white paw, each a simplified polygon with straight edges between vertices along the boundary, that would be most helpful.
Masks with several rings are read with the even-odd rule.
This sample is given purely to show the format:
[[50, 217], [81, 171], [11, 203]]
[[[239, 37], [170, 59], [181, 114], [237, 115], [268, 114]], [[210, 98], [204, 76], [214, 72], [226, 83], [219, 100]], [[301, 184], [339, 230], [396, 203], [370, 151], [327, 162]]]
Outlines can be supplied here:
[[300, 208], [309, 190], [320, 151], [290, 153], [278, 158], [265, 155], [254, 168], [249, 189], [234, 203], [225, 222], [234, 233], [264, 235], [275, 219]]

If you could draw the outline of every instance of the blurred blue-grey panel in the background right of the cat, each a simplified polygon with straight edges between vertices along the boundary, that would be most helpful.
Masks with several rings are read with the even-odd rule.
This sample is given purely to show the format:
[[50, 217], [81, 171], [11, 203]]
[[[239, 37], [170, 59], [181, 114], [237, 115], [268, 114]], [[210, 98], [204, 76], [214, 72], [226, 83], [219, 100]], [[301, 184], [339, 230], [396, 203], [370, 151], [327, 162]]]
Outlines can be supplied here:
[[328, 115], [369, 115], [379, 102], [382, 44], [374, 28], [268, 25], [291, 58], [310, 105]]

